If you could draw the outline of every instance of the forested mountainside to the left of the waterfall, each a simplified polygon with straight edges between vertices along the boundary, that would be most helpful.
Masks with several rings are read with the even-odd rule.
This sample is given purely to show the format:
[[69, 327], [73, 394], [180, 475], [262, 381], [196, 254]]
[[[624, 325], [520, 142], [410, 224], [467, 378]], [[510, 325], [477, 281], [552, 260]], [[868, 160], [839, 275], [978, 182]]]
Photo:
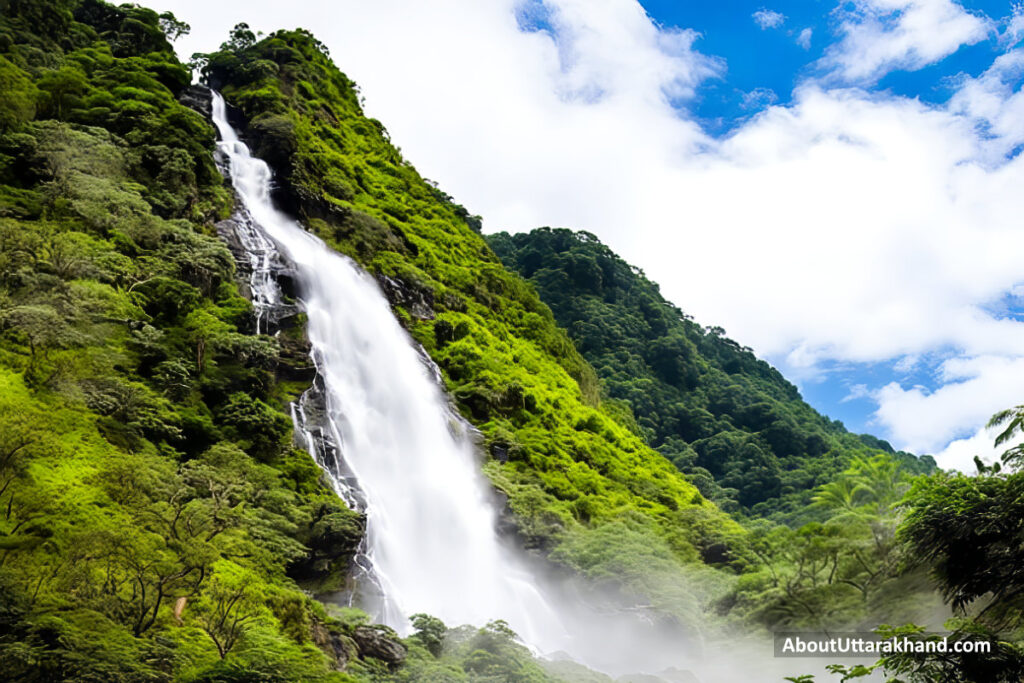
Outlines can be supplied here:
[[213, 233], [214, 131], [177, 101], [183, 30], [0, 11], [5, 679], [346, 680], [310, 635], [346, 627], [289, 567], [333, 523], [344, 571], [361, 521], [290, 446], [278, 343]]

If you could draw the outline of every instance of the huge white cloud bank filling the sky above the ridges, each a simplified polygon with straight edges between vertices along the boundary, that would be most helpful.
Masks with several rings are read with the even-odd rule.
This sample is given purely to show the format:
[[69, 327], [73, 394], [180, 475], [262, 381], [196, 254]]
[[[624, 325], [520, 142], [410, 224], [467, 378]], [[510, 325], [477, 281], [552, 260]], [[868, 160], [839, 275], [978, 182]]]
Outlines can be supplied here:
[[[952, 355], [935, 391], [872, 388], [897, 446], [940, 451], [1021, 402], [1024, 324], [991, 305], [1024, 283], [1024, 160], [1006, 157], [1024, 142], [1017, 52], [945, 106], [805, 82], [715, 139], [674, 105], [724, 65], [634, 0], [549, 0], [525, 32], [514, 0], [156, 4], [193, 25], [185, 54], [239, 19], [312, 28], [406, 156], [487, 229], [589, 229], [783, 370]], [[826, 53], [852, 80], [987, 31], [948, 0], [857, 12]]]

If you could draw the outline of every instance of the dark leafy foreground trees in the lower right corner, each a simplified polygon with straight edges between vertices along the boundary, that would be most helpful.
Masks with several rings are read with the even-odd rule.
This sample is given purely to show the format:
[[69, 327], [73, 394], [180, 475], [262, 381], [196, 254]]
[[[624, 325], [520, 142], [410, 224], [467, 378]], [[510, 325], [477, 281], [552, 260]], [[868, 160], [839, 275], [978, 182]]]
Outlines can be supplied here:
[[[1022, 431], [1024, 407], [996, 414], [990, 426], [999, 425], [1005, 430], [996, 445]], [[940, 472], [919, 477], [902, 501], [905, 516], [895, 547], [906, 565], [931, 573], [952, 609], [943, 625], [948, 651], [896, 652], [868, 667], [836, 666], [833, 673], [850, 681], [884, 672], [888, 680], [907, 683], [1014, 683], [1024, 677], [1022, 453], [1021, 446], [1014, 446], [993, 465], [976, 458], [976, 476]], [[939, 638], [915, 624], [883, 625], [877, 632], [887, 639], [925, 643]], [[989, 649], [953, 651], [953, 643], [965, 641]], [[802, 680], [810, 683], [813, 678]]]

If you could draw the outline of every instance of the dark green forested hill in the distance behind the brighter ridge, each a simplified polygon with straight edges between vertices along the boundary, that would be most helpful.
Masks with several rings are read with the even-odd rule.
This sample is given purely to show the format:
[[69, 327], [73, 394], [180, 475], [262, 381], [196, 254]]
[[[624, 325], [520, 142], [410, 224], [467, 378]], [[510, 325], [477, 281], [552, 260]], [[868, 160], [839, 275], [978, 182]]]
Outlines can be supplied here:
[[880, 450], [909, 472], [935, 468], [819, 415], [778, 371], [690, 319], [593, 234], [540, 228], [487, 241], [534, 284], [651, 445], [720, 505], [800, 511], [816, 486]]

